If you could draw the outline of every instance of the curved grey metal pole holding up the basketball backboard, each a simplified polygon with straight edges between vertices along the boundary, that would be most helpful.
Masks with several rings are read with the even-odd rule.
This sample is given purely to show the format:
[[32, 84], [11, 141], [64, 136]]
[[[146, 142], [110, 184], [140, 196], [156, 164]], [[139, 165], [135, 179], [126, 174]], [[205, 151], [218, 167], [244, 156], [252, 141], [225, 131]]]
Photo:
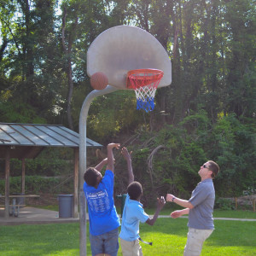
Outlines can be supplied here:
[[84, 195], [84, 172], [86, 171], [86, 120], [90, 103], [96, 96], [111, 93], [117, 88], [108, 85], [104, 90], [93, 90], [86, 96], [79, 118], [79, 218], [80, 218], [80, 256], [86, 256], [86, 203]]

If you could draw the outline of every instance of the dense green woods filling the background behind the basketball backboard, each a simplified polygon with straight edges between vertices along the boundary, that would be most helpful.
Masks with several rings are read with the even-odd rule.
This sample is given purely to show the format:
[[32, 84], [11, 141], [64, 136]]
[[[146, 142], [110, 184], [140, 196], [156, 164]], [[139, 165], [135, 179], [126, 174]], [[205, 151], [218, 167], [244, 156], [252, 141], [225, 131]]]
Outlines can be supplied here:
[[[137, 134], [138, 170], [153, 157], [148, 185], [188, 191], [211, 158], [223, 170], [218, 188], [239, 194], [256, 180], [255, 21], [250, 0], [1, 1], [0, 120], [78, 131], [90, 43], [108, 27], [139, 26], [171, 56], [172, 85], [158, 90], [152, 113], [137, 112], [131, 92], [96, 99], [89, 136]], [[142, 147], [148, 137], [154, 143]]]

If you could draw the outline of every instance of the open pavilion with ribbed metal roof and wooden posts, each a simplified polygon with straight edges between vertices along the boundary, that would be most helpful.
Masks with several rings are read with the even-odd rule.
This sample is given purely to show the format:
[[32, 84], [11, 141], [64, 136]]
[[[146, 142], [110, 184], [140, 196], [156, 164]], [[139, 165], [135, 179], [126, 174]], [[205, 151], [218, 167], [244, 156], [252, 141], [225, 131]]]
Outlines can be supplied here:
[[[63, 125], [0, 123], [0, 159], [5, 160], [5, 218], [9, 218], [10, 159], [21, 160], [21, 194], [25, 194], [26, 159], [35, 159], [44, 148], [73, 148], [73, 218], [79, 217], [79, 133]], [[86, 138], [86, 147], [102, 145]]]

